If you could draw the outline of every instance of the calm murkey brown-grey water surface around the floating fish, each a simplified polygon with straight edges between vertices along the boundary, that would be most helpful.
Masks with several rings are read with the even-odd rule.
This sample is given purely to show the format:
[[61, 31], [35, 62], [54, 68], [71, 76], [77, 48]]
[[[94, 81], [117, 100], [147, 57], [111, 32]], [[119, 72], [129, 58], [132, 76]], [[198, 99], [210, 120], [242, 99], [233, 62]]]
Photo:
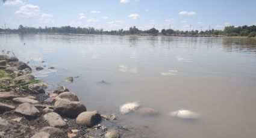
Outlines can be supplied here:
[[[256, 40], [2, 34], [0, 47], [46, 65], [39, 79], [67, 86], [89, 110], [116, 113], [137, 137], [256, 137]], [[69, 76], [79, 77], [61, 82]], [[160, 114], [120, 115], [128, 101]], [[200, 117], [168, 115], [181, 108]]]

